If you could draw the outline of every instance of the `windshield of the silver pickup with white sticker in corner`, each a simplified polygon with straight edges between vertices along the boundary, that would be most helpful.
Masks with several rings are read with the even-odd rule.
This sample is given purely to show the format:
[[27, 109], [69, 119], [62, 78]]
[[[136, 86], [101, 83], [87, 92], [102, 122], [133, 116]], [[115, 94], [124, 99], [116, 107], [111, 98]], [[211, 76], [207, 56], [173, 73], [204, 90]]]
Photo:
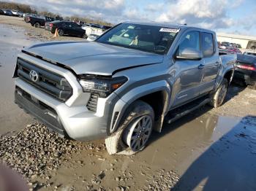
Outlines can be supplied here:
[[178, 31], [178, 28], [121, 23], [96, 41], [163, 55], [169, 50]]

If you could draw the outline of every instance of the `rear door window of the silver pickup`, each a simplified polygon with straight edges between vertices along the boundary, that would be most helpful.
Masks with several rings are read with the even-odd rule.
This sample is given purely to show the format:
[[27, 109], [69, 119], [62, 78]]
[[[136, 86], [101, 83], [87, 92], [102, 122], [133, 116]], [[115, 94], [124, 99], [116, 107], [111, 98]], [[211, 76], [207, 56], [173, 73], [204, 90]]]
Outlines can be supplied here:
[[210, 57], [214, 54], [214, 38], [210, 33], [202, 33], [203, 57]]

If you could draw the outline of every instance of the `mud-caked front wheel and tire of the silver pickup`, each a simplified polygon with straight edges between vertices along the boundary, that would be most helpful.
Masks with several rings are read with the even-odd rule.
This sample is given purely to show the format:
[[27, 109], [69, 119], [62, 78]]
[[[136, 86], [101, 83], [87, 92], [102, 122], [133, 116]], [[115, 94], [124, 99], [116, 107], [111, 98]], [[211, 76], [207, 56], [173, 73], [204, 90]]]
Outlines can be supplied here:
[[[143, 125], [143, 121], [146, 122], [146, 120], [148, 120], [148, 126]], [[151, 136], [154, 127], [154, 110], [144, 101], [135, 101], [127, 109], [120, 124], [117, 132], [105, 139], [108, 153], [134, 155], [146, 147]], [[132, 139], [132, 137], [135, 138]], [[135, 147], [134, 143], [140, 144], [140, 147]]]

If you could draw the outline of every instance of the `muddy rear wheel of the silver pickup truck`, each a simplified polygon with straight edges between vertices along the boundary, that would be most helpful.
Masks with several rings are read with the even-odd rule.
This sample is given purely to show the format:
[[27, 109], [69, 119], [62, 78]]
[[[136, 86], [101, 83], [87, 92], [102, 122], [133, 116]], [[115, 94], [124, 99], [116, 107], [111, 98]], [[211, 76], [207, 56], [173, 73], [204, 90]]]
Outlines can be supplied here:
[[211, 101], [209, 102], [210, 106], [213, 106], [214, 108], [222, 106], [227, 95], [227, 87], [228, 82], [227, 79], [224, 78], [222, 79], [222, 83], [219, 85], [217, 91], [213, 95], [211, 95]]

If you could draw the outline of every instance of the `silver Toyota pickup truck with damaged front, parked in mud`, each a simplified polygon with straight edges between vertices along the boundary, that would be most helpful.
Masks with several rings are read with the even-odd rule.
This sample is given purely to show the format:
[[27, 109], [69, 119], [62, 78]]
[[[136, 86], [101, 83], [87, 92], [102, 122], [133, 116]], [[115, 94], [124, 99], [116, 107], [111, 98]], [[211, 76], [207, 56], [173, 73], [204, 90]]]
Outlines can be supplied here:
[[18, 55], [15, 103], [62, 136], [104, 138], [110, 154], [135, 153], [163, 122], [222, 105], [236, 55], [219, 56], [217, 45], [213, 31], [166, 23], [35, 44]]

